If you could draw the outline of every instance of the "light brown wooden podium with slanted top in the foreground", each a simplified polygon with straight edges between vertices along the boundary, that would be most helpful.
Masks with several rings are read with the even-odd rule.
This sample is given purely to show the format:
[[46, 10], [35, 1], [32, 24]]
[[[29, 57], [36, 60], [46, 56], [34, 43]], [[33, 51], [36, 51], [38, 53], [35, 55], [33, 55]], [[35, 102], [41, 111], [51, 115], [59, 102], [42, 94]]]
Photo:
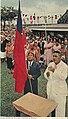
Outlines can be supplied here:
[[23, 112], [31, 117], [47, 117], [55, 111], [57, 103], [29, 92], [14, 101], [13, 106], [18, 113]]

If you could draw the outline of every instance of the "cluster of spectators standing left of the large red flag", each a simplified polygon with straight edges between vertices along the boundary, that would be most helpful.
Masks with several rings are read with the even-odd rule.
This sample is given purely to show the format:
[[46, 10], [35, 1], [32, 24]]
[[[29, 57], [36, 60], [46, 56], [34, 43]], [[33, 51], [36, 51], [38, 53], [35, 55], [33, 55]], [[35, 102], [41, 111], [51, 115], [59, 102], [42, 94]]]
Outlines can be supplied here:
[[14, 51], [15, 30], [1, 32], [1, 62], [7, 61], [9, 73], [13, 73], [13, 51]]

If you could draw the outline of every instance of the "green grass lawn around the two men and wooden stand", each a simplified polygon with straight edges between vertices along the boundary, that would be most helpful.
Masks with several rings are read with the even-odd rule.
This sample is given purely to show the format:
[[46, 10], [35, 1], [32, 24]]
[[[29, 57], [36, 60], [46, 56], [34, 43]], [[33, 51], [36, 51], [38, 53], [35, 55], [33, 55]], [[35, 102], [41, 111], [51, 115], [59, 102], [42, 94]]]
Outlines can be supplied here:
[[[44, 79], [43, 73], [38, 79], [39, 81], [39, 95], [46, 97], [47, 80]], [[23, 94], [22, 94], [23, 95]], [[6, 63], [1, 65], [1, 116], [15, 117], [15, 109], [12, 102], [21, 97], [21, 95], [14, 92], [14, 79], [11, 74], [8, 74]], [[67, 99], [68, 100], [68, 99]], [[66, 105], [66, 107], [68, 107]], [[21, 114], [21, 116], [26, 116]], [[67, 109], [66, 109], [66, 116]]]

